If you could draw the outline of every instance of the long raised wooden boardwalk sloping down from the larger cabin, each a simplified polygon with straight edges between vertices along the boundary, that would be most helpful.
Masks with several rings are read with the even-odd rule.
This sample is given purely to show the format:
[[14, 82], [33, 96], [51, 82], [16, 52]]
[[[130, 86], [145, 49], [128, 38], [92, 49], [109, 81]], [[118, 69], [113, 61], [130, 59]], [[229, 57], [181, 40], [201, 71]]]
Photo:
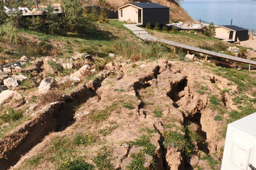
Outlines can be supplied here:
[[[134, 34], [137, 35], [140, 39], [145, 40], [145, 41], [161, 42], [161, 43], [164, 43], [164, 44], [167, 44], [167, 45], [172, 45], [174, 47], [186, 49], [187, 51], [194, 51], [194, 52], [198, 52], [198, 53], [202, 53], [202, 54], [206, 54], [206, 55], [211, 55], [211, 56], [214, 56], [214, 57], [220, 57], [220, 58], [223, 58], [223, 59], [229, 59], [229, 60], [242, 62], [242, 63], [246, 63], [246, 64], [250, 64], [250, 65], [256, 65], [256, 61], [252, 61], [250, 59], [243, 59], [243, 58], [239, 58], [239, 57], [230, 56], [230, 55], [227, 55], [227, 54], [221, 54], [221, 53], [216, 53], [216, 52], [209, 51], [209, 50], [204, 50], [202, 48], [197, 48], [197, 47], [192, 47], [192, 46], [185, 45], [185, 44], [180, 44], [178, 42], [163, 40], [163, 39], [151, 36], [149, 34], [138, 34], [138, 30], [140, 30], [141, 32], [143, 32], [145, 30], [143, 28], [139, 28], [138, 26], [135, 26], [135, 25], [132, 25], [132, 26], [125, 25], [125, 26], [129, 29], [131, 28], [131, 31], [133, 31], [133, 29], [134, 29], [134, 32], [135, 32]], [[145, 32], [143, 32], [143, 33], [145, 33]]]

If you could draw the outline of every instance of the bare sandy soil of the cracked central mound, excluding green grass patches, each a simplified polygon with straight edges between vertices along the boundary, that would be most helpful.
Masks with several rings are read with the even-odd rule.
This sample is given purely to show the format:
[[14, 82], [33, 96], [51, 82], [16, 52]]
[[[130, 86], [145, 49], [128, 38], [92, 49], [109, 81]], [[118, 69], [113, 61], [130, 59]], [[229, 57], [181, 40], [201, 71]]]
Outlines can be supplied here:
[[[186, 127], [201, 136], [205, 142], [193, 142], [193, 149], [198, 150], [195, 155], [200, 159], [209, 153], [220, 162], [224, 147], [224, 138], [220, 133], [224, 130], [226, 122], [224, 119], [216, 121], [215, 116], [229, 119], [229, 111], [239, 110], [233, 105], [229, 95], [238, 92], [234, 83], [213, 74], [204, 62], [160, 59], [154, 62], [128, 63], [125, 59], [116, 58], [105, 66], [102, 73], [104, 72], [110, 75], [101, 82], [101, 87], [95, 89], [97, 95], [76, 109], [76, 121], [63, 131], [46, 136], [11, 170], [25, 170], [26, 161], [39, 153], [43, 156], [36, 167], [30, 167], [31, 170], [56, 169], [57, 150], [50, 150], [52, 141], [60, 138], [72, 141], [76, 134], [86, 133], [94, 136], [96, 141], [88, 146], [76, 146], [76, 151], [72, 154], [85, 156], [86, 161], [93, 164], [93, 157], [100, 148], [107, 146], [112, 155], [113, 150], [123, 143], [129, 144], [129, 141], [149, 133], [142, 130], [143, 128], [156, 130], [150, 132], [150, 142], [158, 148], [153, 156], [157, 161], [158, 170], [193, 169], [186, 162], [182, 150], [164, 146], [166, 132], [171, 130], [184, 134], [183, 129]], [[87, 86], [90, 87], [90, 83]], [[204, 93], [199, 93], [198, 90], [202, 87]], [[229, 90], [221, 95], [223, 89]], [[209, 101], [212, 95], [221, 99], [222, 103], [218, 107], [221, 107], [224, 113], [219, 113], [213, 107]], [[107, 115], [103, 119], [101, 114], [105, 111]], [[161, 111], [161, 116], [156, 116], [154, 111]], [[99, 130], [113, 126], [116, 128], [108, 135], [99, 133]], [[121, 169], [125, 169], [123, 160], [131, 156], [130, 147], [122, 158], [116, 157], [113, 152], [113, 163]], [[65, 161], [68, 158], [62, 159]], [[204, 160], [196, 164], [203, 168], [209, 167]], [[215, 169], [220, 169], [219, 163], [215, 165]]]

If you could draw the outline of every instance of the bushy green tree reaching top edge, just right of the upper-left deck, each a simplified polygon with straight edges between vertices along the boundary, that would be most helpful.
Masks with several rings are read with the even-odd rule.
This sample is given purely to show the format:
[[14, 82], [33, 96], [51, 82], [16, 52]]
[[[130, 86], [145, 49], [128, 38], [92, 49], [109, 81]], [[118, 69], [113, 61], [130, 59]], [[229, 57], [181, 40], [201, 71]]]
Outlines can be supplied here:
[[82, 5], [79, 0], [63, 0], [62, 22], [65, 31], [83, 31], [86, 26], [86, 18], [82, 15]]

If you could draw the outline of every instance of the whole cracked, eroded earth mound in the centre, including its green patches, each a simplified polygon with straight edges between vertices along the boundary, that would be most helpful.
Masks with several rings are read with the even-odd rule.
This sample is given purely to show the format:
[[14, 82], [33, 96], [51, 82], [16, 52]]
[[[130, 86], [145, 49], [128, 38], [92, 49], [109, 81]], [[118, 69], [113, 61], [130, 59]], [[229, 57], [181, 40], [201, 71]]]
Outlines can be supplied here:
[[11, 169], [218, 170], [239, 88], [211, 70], [202, 62], [116, 58], [86, 85], [96, 94], [74, 107], [70, 126]]

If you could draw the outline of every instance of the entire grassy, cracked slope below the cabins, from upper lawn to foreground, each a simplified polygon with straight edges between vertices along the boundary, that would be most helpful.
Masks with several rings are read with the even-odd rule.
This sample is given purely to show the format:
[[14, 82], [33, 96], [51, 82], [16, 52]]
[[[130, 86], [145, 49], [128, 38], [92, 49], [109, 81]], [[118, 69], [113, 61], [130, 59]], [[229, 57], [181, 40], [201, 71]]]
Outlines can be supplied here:
[[[28, 77], [9, 88], [22, 97], [0, 107], [4, 169], [219, 170], [227, 124], [256, 112], [254, 70], [186, 60], [186, 51], [143, 42], [117, 20], [62, 35], [3, 28], [15, 37], [0, 39], [2, 65], [29, 58], [0, 74], [1, 85]], [[199, 33], [149, 31], [230, 52]], [[49, 77], [56, 85], [39, 93]]]

